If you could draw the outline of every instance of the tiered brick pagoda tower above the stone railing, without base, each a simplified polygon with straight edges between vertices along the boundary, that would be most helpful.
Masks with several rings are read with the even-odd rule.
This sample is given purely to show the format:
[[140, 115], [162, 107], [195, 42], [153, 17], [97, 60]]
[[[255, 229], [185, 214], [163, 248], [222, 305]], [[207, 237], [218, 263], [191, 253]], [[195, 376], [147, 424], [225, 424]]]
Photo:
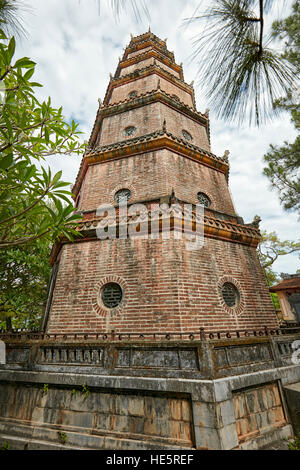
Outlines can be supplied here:
[[[83, 214], [80, 237], [62, 239], [51, 255], [53, 274], [43, 330], [67, 332], [224, 331], [278, 327], [256, 247], [257, 221], [236, 214], [228, 187], [228, 152], [211, 151], [208, 112], [196, 110], [166, 41], [132, 37], [103, 102], [73, 187]], [[121, 213], [120, 201], [127, 213]], [[116, 208], [115, 237], [99, 238]], [[203, 209], [204, 244], [187, 250], [176, 235], [130, 237], [131, 208], [156, 204]], [[147, 216], [148, 214], [146, 214]], [[159, 218], [159, 215], [158, 215]], [[148, 218], [148, 222], [150, 217]], [[174, 222], [175, 221], [175, 222]], [[149, 222], [150, 223], [150, 222]], [[148, 225], [148, 223], [147, 223]], [[128, 233], [128, 232], [127, 232]]]

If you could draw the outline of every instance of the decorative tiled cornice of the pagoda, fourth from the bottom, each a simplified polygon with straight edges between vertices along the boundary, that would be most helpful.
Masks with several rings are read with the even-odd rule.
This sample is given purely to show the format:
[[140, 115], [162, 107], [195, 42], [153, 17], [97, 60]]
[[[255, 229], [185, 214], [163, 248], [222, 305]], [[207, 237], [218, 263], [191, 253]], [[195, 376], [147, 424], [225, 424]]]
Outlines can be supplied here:
[[109, 104], [108, 102], [109, 102], [109, 99], [111, 97], [111, 94], [114, 88], [117, 88], [129, 82], [135, 81], [138, 78], [147, 77], [149, 75], [152, 75], [153, 73], [156, 73], [160, 77], [165, 78], [171, 83], [174, 83], [176, 86], [178, 86], [178, 88], [181, 88], [183, 91], [186, 91], [187, 93], [189, 93], [189, 95], [191, 95], [193, 103], [195, 104], [194, 88], [191, 85], [188, 85], [188, 83], [184, 82], [180, 78], [175, 77], [167, 70], [161, 68], [158, 64], [148, 65], [147, 67], [135, 70], [134, 72], [131, 72], [127, 75], [123, 75], [122, 77], [111, 78], [109, 85], [107, 87], [107, 90], [106, 90], [103, 104], [104, 105]]

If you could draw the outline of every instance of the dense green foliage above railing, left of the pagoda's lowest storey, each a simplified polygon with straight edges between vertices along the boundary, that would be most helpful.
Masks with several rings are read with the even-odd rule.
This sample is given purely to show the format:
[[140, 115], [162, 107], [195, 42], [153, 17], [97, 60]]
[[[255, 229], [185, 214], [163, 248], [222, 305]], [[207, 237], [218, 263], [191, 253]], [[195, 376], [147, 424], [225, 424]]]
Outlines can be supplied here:
[[0, 329], [37, 329], [50, 278], [49, 243], [0, 250]]

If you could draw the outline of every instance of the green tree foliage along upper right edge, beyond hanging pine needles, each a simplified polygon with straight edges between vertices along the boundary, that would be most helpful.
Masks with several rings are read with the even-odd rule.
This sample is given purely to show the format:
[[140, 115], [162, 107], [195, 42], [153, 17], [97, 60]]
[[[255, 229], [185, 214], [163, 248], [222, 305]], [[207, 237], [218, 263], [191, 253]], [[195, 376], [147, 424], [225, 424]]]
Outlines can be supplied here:
[[[273, 23], [273, 37], [285, 40], [282, 57], [300, 72], [300, 2], [293, 5], [293, 14], [282, 21]], [[286, 96], [274, 102], [276, 109], [288, 111], [296, 130], [300, 128], [299, 92], [290, 89]], [[300, 135], [295, 142], [284, 142], [278, 147], [270, 145], [264, 156], [267, 166], [264, 174], [269, 178], [271, 187], [277, 190], [285, 210], [300, 214]]]

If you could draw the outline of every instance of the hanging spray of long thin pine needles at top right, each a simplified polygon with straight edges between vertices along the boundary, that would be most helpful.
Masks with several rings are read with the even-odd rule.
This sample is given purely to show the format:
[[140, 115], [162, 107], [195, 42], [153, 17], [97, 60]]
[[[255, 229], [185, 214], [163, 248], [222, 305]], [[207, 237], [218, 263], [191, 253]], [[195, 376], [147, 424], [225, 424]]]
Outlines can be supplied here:
[[274, 3], [213, 0], [187, 20], [199, 24], [193, 54], [199, 83], [206, 86], [210, 106], [226, 120], [259, 125], [278, 113], [273, 102], [292, 86], [293, 66], [264, 37], [265, 12]]

